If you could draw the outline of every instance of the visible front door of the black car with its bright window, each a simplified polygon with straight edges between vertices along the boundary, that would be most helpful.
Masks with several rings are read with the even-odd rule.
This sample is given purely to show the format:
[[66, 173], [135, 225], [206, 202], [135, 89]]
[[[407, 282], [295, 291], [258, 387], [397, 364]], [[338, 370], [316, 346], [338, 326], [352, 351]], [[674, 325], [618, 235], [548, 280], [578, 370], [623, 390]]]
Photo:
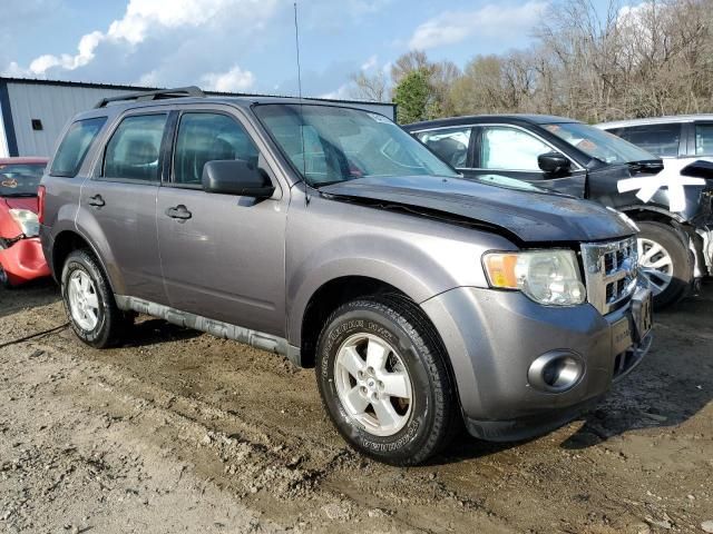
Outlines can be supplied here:
[[472, 168], [467, 176], [499, 175], [529, 181], [547, 189], [584, 198], [586, 170], [567, 155], [572, 168], [553, 176], [539, 168], [537, 157], [561, 151], [535, 132], [512, 125], [480, 125], [473, 130]]

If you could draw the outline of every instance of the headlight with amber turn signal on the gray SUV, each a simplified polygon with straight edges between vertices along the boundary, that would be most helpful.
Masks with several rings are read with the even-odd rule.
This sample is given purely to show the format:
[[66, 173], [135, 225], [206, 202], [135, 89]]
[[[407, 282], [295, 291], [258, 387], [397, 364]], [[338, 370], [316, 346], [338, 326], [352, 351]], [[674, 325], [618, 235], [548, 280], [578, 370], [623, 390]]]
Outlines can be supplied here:
[[585, 301], [586, 290], [572, 250], [489, 253], [484, 256], [484, 266], [490, 286], [519, 289], [536, 303], [574, 306]]

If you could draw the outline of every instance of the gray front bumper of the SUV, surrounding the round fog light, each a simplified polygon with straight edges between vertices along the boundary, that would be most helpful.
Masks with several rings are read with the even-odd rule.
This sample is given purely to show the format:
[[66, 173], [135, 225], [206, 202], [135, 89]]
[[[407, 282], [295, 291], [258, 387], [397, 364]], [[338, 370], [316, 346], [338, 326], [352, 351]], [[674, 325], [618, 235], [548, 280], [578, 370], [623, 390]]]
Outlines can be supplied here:
[[[525, 439], [596, 404], [651, 346], [651, 334], [639, 338], [632, 317], [645, 295], [639, 291], [607, 316], [589, 304], [546, 307], [519, 291], [482, 288], [456, 288], [422, 303], [450, 356], [469, 432], [490, 441]], [[623, 345], [621, 326], [627, 320], [633, 335]], [[584, 363], [579, 382], [564, 393], [528, 382], [533, 362], [553, 350], [574, 353]]]

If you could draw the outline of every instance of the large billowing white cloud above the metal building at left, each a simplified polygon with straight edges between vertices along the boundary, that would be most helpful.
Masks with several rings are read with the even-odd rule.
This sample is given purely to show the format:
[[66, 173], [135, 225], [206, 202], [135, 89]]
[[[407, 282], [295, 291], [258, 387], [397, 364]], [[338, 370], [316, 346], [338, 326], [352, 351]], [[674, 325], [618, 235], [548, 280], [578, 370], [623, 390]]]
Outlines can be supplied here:
[[[264, 29], [277, 6], [279, 0], [129, 0], [124, 17], [110, 22], [106, 31], [81, 37], [77, 53], [42, 55], [28, 67], [11, 62], [6, 71], [38, 78], [78, 78], [71, 72], [84, 68], [88, 79], [156, 86], [174, 83], [176, 73], [193, 62], [198, 65], [191, 67], [207, 72], [202, 76], [201, 70], [194, 70], [184, 77], [204, 78], [213, 88], [233, 88], [225, 90], [247, 88], [255, 81], [252, 72], [234, 66], [234, 49], [215, 49], [215, 41], [229, 36], [231, 47], [237, 40], [246, 43]], [[241, 29], [237, 36], [236, 27]], [[203, 44], [203, 61], [189, 44]], [[207, 61], [206, 51], [211, 55]], [[121, 75], [124, 79], [116, 79]]]

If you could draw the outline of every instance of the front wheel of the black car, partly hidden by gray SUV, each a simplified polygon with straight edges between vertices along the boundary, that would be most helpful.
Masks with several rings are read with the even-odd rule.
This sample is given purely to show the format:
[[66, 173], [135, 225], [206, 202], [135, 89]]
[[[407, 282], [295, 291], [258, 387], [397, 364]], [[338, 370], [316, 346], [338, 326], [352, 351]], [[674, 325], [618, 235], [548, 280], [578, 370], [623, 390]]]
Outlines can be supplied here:
[[648, 220], [637, 225], [639, 269], [651, 283], [654, 307], [662, 309], [688, 288], [693, 278], [688, 249], [675, 228]]

